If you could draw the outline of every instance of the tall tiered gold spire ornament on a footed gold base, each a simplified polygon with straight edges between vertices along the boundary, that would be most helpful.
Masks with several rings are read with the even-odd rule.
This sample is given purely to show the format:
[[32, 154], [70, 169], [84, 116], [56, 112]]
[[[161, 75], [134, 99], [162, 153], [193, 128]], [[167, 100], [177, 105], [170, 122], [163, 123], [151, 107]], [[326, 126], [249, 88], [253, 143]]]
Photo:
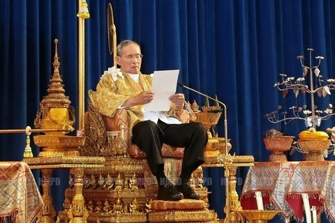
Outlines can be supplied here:
[[[40, 128], [44, 131], [44, 135], [34, 136], [34, 141], [37, 146], [43, 147], [43, 152], [38, 156], [58, 156], [64, 155], [59, 142], [59, 137], [64, 136], [67, 132], [74, 130], [75, 125], [75, 109], [70, 105], [70, 100], [66, 96], [63, 80], [59, 75], [59, 57], [57, 54], [58, 40], [54, 40], [54, 73], [50, 79], [51, 84], [48, 86], [49, 93], [40, 102], [40, 109], [34, 120], [35, 128]], [[52, 131], [54, 130], [54, 131]], [[64, 131], [61, 131], [64, 130]]]

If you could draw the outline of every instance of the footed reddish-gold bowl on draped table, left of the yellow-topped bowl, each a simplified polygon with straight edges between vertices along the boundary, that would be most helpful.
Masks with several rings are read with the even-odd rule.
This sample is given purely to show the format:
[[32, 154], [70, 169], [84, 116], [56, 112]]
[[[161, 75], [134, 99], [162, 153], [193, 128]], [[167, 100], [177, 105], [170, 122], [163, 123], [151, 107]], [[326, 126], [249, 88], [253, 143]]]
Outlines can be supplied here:
[[288, 158], [284, 154], [289, 151], [295, 137], [292, 136], [279, 136], [279, 137], [265, 137], [263, 138], [265, 148], [271, 151], [269, 162], [286, 162]]

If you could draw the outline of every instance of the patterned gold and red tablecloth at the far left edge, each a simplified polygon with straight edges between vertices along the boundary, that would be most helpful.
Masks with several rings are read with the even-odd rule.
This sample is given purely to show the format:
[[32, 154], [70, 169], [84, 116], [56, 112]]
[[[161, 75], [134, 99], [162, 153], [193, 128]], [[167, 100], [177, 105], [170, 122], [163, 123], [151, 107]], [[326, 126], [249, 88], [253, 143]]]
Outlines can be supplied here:
[[0, 222], [36, 222], [43, 206], [27, 163], [0, 162]]

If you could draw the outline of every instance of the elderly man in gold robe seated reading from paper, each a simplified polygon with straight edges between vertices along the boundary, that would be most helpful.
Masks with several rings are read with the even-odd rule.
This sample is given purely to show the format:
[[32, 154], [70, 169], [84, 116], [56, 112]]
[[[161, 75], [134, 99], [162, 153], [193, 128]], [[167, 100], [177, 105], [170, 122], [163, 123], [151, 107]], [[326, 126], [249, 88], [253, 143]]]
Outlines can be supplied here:
[[[173, 112], [145, 112], [145, 104], [154, 98], [151, 89], [152, 77], [142, 75], [140, 45], [124, 40], [117, 46], [117, 64], [120, 69], [109, 68], [101, 77], [96, 91], [89, 96], [98, 111], [105, 116], [114, 116], [117, 109], [126, 109], [130, 117], [131, 142], [147, 155], [151, 173], [158, 181], [158, 199], [177, 201], [200, 199], [188, 180], [204, 162], [204, 146], [207, 131], [201, 123], [181, 123]], [[184, 94], [175, 93], [169, 100], [172, 107], [184, 107]], [[181, 175], [174, 186], [164, 173], [161, 154], [163, 144], [184, 147]]]

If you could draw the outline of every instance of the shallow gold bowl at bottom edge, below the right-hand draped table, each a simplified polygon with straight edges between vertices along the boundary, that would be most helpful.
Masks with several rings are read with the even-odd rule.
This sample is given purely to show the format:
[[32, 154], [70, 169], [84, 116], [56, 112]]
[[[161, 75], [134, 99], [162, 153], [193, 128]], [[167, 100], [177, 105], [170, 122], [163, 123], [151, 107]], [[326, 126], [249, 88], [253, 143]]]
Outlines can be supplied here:
[[236, 210], [251, 222], [267, 222], [283, 210]]

